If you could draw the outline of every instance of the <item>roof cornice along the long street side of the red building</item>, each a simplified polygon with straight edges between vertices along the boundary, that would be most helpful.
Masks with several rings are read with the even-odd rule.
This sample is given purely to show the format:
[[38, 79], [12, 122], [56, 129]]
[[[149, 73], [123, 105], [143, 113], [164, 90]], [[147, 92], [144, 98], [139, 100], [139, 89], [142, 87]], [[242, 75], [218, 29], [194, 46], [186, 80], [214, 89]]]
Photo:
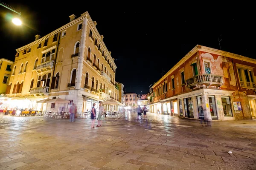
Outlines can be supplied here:
[[166, 79], [166, 77], [169, 74], [171, 74], [173, 71], [175, 71], [181, 64], [183, 64], [187, 59], [189, 59], [189, 57], [194, 55], [197, 51], [198, 51], [198, 45], [196, 45], [191, 51], [189, 51], [189, 53], [186, 54], [185, 57], [180, 59], [180, 61], [177, 62], [177, 64], [175, 64], [160, 80], [158, 80], [154, 85], [152, 85], [151, 88], [155, 88], [161, 81], [163, 81], [163, 79]]

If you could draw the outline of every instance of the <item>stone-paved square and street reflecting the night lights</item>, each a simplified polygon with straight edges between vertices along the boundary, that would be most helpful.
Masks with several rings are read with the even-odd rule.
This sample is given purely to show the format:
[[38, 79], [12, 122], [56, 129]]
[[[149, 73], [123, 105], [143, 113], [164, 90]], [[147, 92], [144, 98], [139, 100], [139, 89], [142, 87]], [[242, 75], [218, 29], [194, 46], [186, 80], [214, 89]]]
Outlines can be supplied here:
[[[256, 170], [256, 120], [0, 118], [0, 170]], [[228, 153], [231, 151], [232, 153]]]

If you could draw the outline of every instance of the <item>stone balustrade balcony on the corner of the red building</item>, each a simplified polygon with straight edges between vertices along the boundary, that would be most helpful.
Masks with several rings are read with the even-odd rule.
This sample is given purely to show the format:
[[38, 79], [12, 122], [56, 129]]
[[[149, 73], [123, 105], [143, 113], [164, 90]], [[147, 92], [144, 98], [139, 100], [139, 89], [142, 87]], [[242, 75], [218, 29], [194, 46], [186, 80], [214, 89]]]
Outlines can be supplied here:
[[186, 80], [187, 86], [191, 89], [195, 88], [218, 88], [223, 85], [222, 76], [214, 74], [196, 75]]

